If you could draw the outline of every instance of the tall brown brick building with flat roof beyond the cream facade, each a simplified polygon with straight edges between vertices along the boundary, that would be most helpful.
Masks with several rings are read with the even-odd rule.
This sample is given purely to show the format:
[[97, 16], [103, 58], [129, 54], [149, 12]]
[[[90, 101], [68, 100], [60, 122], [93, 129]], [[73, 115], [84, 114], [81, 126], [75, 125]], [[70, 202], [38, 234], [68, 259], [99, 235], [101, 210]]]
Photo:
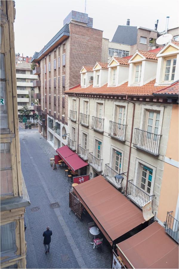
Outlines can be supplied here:
[[39, 131], [54, 148], [66, 145], [62, 138], [68, 132], [68, 98], [64, 91], [80, 84], [83, 64], [94, 66], [102, 59], [103, 32], [92, 28], [92, 21], [88, 14], [70, 12], [62, 29], [32, 58], [37, 63], [33, 74], [38, 75], [34, 86], [39, 91], [34, 109], [42, 116]]

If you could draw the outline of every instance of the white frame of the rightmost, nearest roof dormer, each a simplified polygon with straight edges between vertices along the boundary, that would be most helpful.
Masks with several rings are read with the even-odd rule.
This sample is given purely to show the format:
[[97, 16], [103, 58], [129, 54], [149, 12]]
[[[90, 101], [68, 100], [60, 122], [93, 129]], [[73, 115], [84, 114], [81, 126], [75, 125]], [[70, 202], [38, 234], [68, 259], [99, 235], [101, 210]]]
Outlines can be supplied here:
[[[168, 52], [165, 52], [167, 48], [173, 47], [173, 51], [168, 50]], [[175, 66], [175, 76], [174, 80], [164, 81], [164, 72], [165, 72], [165, 64], [166, 59], [172, 59], [176, 56], [176, 66]], [[156, 81], [155, 86], [159, 85], [171, 85], [174, 81], [178, 80], [178, 73], [179, 73], [179, 47], [178, 45], [173, 44], [172, 42], [169, 42], [166, 44], [161, 51], [157, 54], [158, 57], [158, 65], [157, 65], [157, 74], [156, 74]]]

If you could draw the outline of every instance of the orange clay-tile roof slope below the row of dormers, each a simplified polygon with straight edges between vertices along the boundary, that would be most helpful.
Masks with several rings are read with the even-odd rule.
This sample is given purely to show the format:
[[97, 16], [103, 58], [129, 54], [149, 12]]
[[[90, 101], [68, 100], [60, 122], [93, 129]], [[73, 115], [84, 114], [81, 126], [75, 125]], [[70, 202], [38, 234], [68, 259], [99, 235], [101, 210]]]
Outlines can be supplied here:
[[163, 86], [154, 86], [154, 84], [155, 80], [152, 80], [143, 86], [128, 87], [128, 82], [117, 87], [107, 87], [107, 84], [100, 88], [93, 87], [92, 85], [87, 88], [81, 88], [81, 86], [79, 86], [76, 88], [71, 88], [69, 91], [65, 91], [65, 93], [152, 95], [154, 92], [163, 89]]

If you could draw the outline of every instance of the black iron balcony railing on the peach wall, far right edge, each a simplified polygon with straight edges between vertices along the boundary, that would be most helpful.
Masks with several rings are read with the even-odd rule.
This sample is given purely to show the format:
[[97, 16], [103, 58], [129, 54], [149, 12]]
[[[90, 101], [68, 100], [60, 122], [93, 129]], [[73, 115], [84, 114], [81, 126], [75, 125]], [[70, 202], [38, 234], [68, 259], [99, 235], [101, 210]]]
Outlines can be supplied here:
[[165, 231], [178, 243], [178, 220], [172, 216], [172, 212], [167, 211]]

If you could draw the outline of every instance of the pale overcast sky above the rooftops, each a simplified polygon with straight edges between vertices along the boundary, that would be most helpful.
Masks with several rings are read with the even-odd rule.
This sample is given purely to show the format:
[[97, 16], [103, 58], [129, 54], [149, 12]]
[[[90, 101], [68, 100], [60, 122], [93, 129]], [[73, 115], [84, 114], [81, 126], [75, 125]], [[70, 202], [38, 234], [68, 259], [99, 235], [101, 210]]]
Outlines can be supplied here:
[[[63, 20], [71, 10], [83, 12], [84, 0], [15, 0], [14, 22], [15, 52], [33, 56], [39, 52], [63, 27]], [[158, 31], [163, 31], [166, 16], [169, 29], [178, 27], [178, 0], [87, 0], [86, 13], [93, 18], [93, 28], [103, 30], [109, 41], [118, 27], [126, 25], [154, 29], [158, 19]]]

